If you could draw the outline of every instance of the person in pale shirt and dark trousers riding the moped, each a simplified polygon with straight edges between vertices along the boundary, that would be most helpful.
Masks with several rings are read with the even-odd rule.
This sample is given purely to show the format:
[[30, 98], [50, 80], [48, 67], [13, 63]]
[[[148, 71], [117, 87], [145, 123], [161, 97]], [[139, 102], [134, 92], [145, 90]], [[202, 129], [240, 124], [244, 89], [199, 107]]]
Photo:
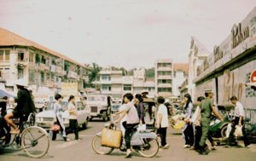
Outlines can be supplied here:
[[124, 95], [125, 97], [125, 108], [120, 112], [116, 112], [115, 114], [121, 114], [121, 117], [115, 121], [115, 124], [119, 123], [119, 121], [125, 117], [126, 122], [124, 122], [125, 126], [125, 146], [126, 146], [126, 158], [131, 157], [131, 136], [133, 133], [134, 127], [139, 124], [139, 117], [137, 115], [137, 109], [132, 102], [133, 95], [128, 93]]

